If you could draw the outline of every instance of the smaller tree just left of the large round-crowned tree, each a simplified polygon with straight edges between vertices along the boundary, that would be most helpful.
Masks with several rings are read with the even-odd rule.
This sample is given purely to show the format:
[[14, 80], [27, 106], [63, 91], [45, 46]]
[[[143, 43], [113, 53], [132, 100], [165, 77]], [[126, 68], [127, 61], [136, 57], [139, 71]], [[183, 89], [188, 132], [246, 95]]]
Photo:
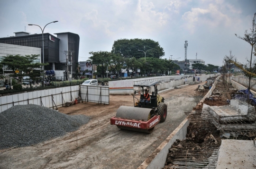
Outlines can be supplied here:
[[110, 62], [110, 52], [108, 51], [96, 51], [96, 52], [89, 52], [92, 56], [89, 59], [92, 59], [93, 64], [97, 66], [101, 66], [101, 75], [105, 75], [105, 70], [108, 63]]

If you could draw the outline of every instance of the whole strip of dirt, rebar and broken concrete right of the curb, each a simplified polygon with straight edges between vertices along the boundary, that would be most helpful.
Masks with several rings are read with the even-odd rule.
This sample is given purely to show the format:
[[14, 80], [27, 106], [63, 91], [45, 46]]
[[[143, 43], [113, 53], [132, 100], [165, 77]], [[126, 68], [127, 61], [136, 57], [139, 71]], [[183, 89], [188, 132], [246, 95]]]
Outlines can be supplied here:
[[[215, 169], [221, 139], [256, 137], [256, 108], [252, 106], [256, 99], [246, 90], [236, 91], [227, 91], [224, 85], [217, 84], [203, 104], [185, 112], [190, 121], [186, 139], [176, 140], [169, 149], [164, 169]], [[248, 94], [250, 104], [244, 102]]]

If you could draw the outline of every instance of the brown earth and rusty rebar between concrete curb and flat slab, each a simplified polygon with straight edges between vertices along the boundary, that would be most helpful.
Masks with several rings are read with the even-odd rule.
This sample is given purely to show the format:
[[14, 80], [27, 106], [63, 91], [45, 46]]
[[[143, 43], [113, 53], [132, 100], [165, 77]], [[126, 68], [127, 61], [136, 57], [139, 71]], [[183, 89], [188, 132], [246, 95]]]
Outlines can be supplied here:
[[221, 140], [219, 131], [201, 111], [185, 112], [190, 119], [186, 139], [176, 142], [169, 149], [164, 169], [215, 169]]

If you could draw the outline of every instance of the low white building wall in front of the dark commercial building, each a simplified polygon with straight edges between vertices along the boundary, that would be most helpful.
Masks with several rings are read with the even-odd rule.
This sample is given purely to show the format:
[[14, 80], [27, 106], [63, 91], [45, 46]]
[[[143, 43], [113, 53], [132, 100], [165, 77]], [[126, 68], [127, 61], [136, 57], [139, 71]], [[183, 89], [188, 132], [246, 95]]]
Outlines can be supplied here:
[[36, 62], [41, 63], [41, 48], [29, 47], [29, 46], [20, 46], [7, 43], [0, 43], [0, 59], [6, 55], [39, 55]]

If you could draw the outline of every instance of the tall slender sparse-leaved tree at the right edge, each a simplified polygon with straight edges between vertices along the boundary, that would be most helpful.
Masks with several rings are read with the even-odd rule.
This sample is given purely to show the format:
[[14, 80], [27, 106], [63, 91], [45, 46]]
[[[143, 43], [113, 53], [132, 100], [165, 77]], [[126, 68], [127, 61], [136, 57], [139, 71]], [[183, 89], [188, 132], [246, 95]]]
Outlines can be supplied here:
[[[247, 30], [245, 31], [245, 36], [244, 37], [240, 37], [238, 36], [237, 34], [235, 34], [239, 39], [242, 39], [248, 43], [250, 43], [250, 45], [252, 46], [252, 51], [251, 51], [251, 59], [250, 59], [250, 69], [252, 67], [252, 53], [253, 53], [253, 48], [254, 48], [254, 45], [256, 43], [256, 23], [255, 23], [255, 19], [256, 19], [256, 13], [254, 14], [254, 17], [253, 17], [253, 20], [252, 20], [252, 29], [251, 30], [251, 33], [247, 33]], [[248, 85], [248, 88], [250, 89], [250, 79], [249, 79], [249, 85]]]

